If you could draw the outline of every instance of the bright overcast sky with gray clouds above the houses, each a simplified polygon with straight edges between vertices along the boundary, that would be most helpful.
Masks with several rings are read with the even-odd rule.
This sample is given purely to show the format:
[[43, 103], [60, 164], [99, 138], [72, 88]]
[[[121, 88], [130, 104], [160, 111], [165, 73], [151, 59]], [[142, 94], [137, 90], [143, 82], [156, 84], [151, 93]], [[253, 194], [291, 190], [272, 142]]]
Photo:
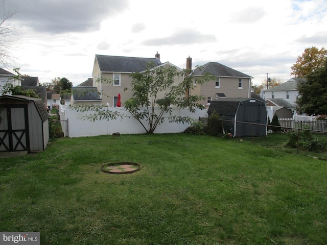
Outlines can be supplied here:
[[190, 56], [193, 66], [219, 62], [255, 84], [267, 72], [286, 82], [305, 48], [327, 48], [326, 0], [4, 1], [20, 33], [12, 65], [40, 83], [84, 82], [96, 54], [154, 58], [156, 52], [180, 68]]

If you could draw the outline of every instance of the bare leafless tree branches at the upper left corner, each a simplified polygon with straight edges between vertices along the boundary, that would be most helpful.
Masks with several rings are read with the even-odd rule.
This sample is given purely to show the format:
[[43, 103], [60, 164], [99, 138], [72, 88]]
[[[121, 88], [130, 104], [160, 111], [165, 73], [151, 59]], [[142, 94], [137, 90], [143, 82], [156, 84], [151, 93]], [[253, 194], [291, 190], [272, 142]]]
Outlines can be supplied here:
[[10, 51], [18, 36], [18, 30], [12, 21], [15, 14], [16, 9], [7, 4], [6, 0], [0, 0], [0, 66], [4, 67], [14, 60]]

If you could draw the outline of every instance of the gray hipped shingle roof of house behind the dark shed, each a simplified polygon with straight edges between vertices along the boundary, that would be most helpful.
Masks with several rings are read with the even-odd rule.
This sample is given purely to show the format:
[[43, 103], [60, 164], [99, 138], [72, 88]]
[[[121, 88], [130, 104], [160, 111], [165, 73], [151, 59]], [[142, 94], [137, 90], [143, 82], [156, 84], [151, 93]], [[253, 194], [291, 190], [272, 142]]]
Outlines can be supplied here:
[[196, 68], [194, 70], [193, 76], [203, 75], [205, 72], [209, 72], [211, 75], [217, 77], [252, 78], [249, 75], [246, 75], [228, 66], [222, 65], [218, 62], [209, 62], [203, 65], [202, 68]]

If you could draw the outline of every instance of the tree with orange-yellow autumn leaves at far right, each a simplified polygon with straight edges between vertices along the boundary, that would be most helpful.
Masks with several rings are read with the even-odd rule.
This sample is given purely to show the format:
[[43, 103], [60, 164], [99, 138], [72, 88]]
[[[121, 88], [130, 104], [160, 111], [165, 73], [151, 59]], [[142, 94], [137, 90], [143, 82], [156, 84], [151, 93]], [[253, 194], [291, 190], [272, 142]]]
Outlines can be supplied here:
[[318, 68], [323, 66], [327, 58], [327, 50], [323, 47], [319, 50], [317, 47], [308, 47], [301, 56], [298, 56], [296, 63], [291, 67], [291, 75], [296, 78], [306, 78]]

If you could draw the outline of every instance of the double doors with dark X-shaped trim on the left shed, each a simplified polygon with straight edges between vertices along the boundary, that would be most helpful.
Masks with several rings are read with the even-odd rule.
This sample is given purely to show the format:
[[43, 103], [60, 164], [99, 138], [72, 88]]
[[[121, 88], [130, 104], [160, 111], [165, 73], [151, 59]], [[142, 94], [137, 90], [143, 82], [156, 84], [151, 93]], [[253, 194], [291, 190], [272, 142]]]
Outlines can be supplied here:
[[0, 108], [0, 151], [29, 150], [27, 105]]

